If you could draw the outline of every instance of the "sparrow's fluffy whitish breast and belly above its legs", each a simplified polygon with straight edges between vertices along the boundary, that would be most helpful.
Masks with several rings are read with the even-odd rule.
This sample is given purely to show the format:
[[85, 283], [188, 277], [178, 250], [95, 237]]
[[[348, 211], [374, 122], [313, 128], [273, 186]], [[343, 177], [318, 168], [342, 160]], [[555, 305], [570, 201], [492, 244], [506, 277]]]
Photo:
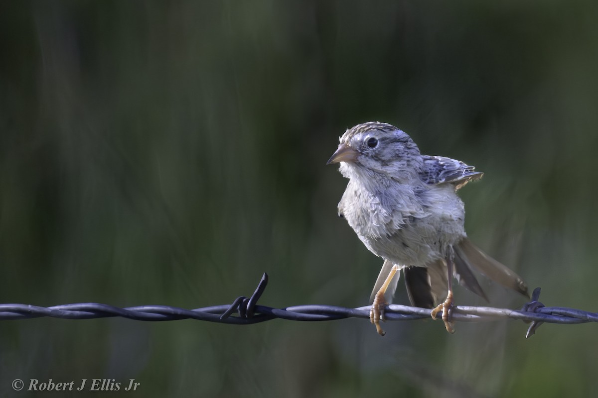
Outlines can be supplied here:
[[425, 266], [465, 236], [463, 203], [443, 187], [372, 192], [349, 183], [339, 209], [371, 252], [395, 264]]

